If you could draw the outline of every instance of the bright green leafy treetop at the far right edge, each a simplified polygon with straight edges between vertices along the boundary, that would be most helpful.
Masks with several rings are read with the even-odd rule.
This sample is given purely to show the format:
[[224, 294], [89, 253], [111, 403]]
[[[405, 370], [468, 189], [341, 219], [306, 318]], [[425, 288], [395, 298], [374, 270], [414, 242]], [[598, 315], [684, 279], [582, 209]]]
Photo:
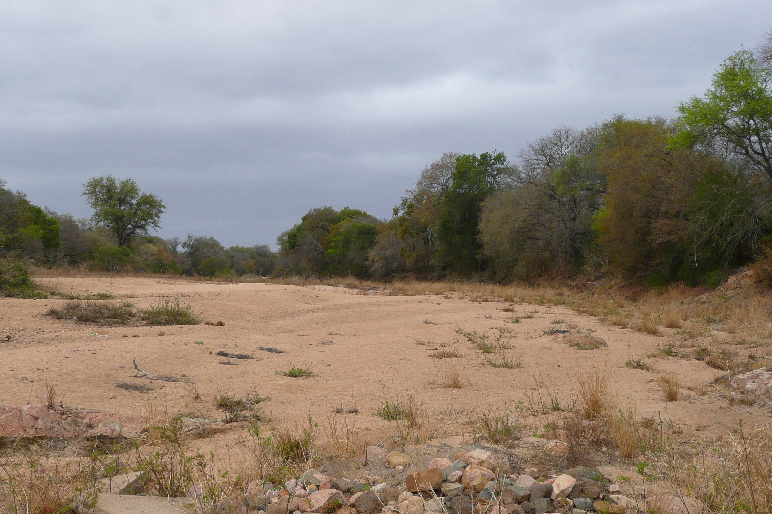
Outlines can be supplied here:
[[772, 72], [749, 50], [730, 55], [703, 98], [680, 104], [672, 146], [726, 144], [772, 180]]

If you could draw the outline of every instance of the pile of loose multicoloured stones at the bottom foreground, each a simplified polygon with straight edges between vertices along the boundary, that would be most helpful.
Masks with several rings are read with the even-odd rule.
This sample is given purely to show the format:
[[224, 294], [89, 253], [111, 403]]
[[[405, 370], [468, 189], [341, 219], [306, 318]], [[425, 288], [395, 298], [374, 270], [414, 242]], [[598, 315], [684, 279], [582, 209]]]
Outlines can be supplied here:
[[[401, 476], [413, 459], [390, 452], [384, 464]], [[398, 483], [375, 484], [336, 479], [310, 469], [280, 487], [252, 482], [245, 490], [244, 503], [258, 514], [625, 514], [635, 506], [625, 496], [610, 495], [608, 481], [595, 469], [578, 466], [540, 481], [533, 478], [536, 469], [515, 475], [499, 472], [505, 464], [488, 450], [462, 449], [455, 459], [432, 459]]]

